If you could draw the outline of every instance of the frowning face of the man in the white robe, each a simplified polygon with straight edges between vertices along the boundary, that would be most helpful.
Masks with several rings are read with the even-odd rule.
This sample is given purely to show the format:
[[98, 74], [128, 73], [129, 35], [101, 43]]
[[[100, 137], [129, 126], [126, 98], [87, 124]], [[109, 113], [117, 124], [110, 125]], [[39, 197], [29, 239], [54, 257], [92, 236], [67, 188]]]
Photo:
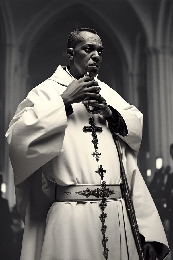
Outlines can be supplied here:
[[102, 63], [103, 46], [97, 34], [83, 31], [80, 33], [81, 41], [74, 48], [73, 69], [79, 79], [89, 72], [95, 77]]

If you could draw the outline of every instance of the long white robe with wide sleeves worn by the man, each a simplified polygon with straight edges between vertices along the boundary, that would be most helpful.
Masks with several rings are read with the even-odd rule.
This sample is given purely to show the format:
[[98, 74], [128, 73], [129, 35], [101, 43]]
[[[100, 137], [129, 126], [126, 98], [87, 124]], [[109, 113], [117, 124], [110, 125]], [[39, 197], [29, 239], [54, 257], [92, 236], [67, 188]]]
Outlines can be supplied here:
[[[18, 106], [6, 134], [17, 206], [25, 222], [21, 260], [104, 260], [98, 202], [54, 202], [55, 183], [100, 183], [95, 173], [100, 164], [107, 170], [104, 175], [107, 184], [121, 182], [118, 155], [106, 119], [92, 115], [95, 125], [103, 129], [97, 133], [101, 152], [98, 165], [91, 155], [94, 151], [91, 134], [82, 131], [83, 126], [89, 125], [91, 115], [82, 103], [77, 103], [72, 104], [74, 113], [66, 116], [60, 95], [73, 78], [64, 68], [58, 66], [50, 79], [30, 91]], [[163, 259], [169, 251], [166, 235], [137, 167], [142, 114], [97, 77], [96, 80], [101, 96], [127, 125], [127, 136], [118, 136], [139, 232], [146, 241], [163, 244], [158, 256]], [[109, 202], [105, 213], [108, 260], [115, 256], [116, 260], [137, 260], [124, 200]]]

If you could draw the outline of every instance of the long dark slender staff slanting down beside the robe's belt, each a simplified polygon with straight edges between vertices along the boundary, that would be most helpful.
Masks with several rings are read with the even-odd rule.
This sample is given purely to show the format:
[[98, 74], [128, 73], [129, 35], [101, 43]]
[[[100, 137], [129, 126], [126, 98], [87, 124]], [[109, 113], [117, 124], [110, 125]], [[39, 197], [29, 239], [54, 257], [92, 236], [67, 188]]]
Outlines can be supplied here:
[[[114, 131], [112, 131], [112, 132], [114, 132]], [[128, 182], [127, 182], [127, 178], [125, 176], [125, 170], [124, 170], [123, 162], [122, 162], [122, 159], [120, 157], [120, 146], [119, 146], [119, 143], [118, 143], [118, 137], [117, 137], [117, 135], [115, 135], [115, 133], [113, 133], [113, 137], [114, 137], [114, 141], [115, 141], [115, 144], [116, 144], [116, 147], [117, 147], [118, 157], [119, 157], [119, 160], [120, 160], [120, 170], [121, 170], [121, 179], [122, 179], [122, 187], [123, 187], [123, 198], [125, 200], [125, 206], [126, 206], [127, 213], [128, 213], [128, 216], [129, 216], [131, 229], [133, 231], [133, 236], [134, 236], [134, 239], [135, 239], [139, 259], [145, 260], [144, 253], [143, 253], [143, 247], [142, 247], [142, 243], [141, 243], [141, 238], [140, 238], [140, 233], [139, 233], [139, 229], [138, 229], [138, 224], [137, 224], [137, 220], [136, 220], [136, 216], [135, 216], [135, 210], [134, 210], [133, 202], [132, 202], [132, 199], [131, 199], [132, 194], [130, 192], [129, 185], [128, 185]]]

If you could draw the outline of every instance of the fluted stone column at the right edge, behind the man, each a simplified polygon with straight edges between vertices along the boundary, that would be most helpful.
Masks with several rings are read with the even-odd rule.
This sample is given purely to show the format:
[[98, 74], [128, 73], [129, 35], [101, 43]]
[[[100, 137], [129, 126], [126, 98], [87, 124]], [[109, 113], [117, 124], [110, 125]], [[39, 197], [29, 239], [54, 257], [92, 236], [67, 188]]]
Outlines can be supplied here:
[[149, 118], [150, 168], [155, 171], [157, 157], [163, 166], [173, 165], [169, 155], [173, 142], [172, 49], [147, 49], [147, 96]]

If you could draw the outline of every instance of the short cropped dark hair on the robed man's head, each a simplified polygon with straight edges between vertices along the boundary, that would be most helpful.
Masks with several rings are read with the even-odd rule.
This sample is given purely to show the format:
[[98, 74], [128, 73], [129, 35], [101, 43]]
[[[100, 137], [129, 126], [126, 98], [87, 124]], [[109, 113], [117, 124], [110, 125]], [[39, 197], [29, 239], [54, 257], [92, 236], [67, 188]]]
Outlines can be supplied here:
[[97, 34], [96, 30], [91, 29], [91, 28], [79, 28], [74, 30], [73, 32], [71, 32], [71, 34], [69, 35], [68, 38], [68, 42], [67, 42], [67, 48], [75, 48], [76, 44], [81, 40], [80, 39], [80, 32], [92, 32]]

